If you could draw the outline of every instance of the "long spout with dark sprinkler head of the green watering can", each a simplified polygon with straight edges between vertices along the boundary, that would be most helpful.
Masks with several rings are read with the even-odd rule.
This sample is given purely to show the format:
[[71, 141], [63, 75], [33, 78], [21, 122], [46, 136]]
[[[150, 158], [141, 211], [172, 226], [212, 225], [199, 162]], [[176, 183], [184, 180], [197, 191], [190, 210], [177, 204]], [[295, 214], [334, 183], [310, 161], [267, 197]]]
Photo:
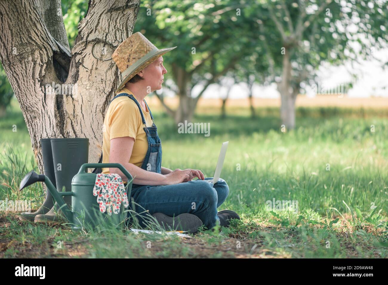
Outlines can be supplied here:
[[26, 174], [26, 176], [24, 176], [23, 180], [20, 183], [19, 190], [23, 190], [23, 188], [26, 188], [35, 182], [44, 182], [46, 184], [47, 190], [50, 191], [52, 197], [54, 197], [55, 199], [55, 202], [57, 202], [60, 206], [60, 209], [64, 213], [66, 219], [68, 219], [70, 223], [73, 223], [73, 213], [61, 197], [71, 196], [73, 195], [73, 192], [58, 192], [47, 176], [43, 174], [38, 174], [33, 170], [31, 170], [29, 173]]

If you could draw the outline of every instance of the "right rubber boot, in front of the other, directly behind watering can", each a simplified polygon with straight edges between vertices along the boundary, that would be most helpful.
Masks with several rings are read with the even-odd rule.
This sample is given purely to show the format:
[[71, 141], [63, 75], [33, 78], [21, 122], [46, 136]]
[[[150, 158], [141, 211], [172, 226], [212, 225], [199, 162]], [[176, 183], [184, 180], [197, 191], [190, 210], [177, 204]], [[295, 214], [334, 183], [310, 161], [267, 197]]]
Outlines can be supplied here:
[[[54, 160], [55, 181], [57, 190], [71, 191], [71, 181], [84, 163], [88, 163], [89, 139], [88, 138], [52, 138], [52, 156]], [[63, 196], [69, 209], [71, 209], [71, 196]], [[67, 219], [55, 202], [47, 214], [35, 216], [35, 223], [58, 224], [67, 222]]]

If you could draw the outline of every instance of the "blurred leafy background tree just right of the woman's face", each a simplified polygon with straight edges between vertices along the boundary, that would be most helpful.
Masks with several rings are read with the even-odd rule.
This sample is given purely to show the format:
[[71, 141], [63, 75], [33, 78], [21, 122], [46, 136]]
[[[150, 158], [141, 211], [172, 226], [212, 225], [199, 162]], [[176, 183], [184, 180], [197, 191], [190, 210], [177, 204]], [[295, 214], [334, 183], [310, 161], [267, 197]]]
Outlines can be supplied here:
[[[211, 84], [217, 84], [228, 71], [235, 71], [247, 54], [261, 45], [253, 37], [255, 24], [242, 16], [250, 2], [236, 0], [145, 0], [134, 27], [159, 48], [177, 46], [163, 59], [172, 84], [170, 89], [179, 98], [172, 110], [158, 96], [175, 123], [191, 121], [199, 98]], [[246, 68], [243, 66], [243, 68]], [[201, 86], [197, 94], [192, 90]]]

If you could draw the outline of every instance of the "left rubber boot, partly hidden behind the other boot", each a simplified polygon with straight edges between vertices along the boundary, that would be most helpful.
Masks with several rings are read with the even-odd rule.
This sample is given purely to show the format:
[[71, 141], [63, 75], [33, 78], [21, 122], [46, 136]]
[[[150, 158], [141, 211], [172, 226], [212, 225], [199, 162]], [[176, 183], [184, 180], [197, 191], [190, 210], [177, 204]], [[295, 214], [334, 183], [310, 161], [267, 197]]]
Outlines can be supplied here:
[[[42, 146], [42, 155], [43, 155], [43, 174], [45, 174], [51, 181], [53, 185], [55, 185], [55, 173], [54, 173], [54, 162], [52, 160], [52, 150], [51, 150], [51, 139], [50, 138], [42, 138], [40, 140], [40, 145]], [[46, 214], [50, 211], [50, 209], [54, 206], [54, 199], [50, 193], [50, 191], [46, 187], [46, 199], [43, 202], [42, 206], [38, 209], [38, 211], [29, 213], [24, 212], [21, 213], [19, 219], [21, 221], [34, 221], [36, 215]]]

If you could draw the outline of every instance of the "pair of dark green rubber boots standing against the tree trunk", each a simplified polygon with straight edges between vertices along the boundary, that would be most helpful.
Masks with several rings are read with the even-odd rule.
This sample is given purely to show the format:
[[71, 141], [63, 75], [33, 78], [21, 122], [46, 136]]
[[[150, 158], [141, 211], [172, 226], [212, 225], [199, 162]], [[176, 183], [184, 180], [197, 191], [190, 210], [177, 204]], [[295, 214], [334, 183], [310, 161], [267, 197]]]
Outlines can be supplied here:
[[[43, 173], [57, 191], [71, 191], [71, 180], [78, 173], [81, 165], [88, 163], [88, 138], [42, 138], [40, 140], [43, 155]], [[71, 196], [63, 196], [71, 209]], [[58, 224], [66, 222], [59, 205], [53, 199], [50, 191], [46, 191], [46, 199], [38, 211], [24, 212], [19, 216], [21, 221], [35, 223]]]

